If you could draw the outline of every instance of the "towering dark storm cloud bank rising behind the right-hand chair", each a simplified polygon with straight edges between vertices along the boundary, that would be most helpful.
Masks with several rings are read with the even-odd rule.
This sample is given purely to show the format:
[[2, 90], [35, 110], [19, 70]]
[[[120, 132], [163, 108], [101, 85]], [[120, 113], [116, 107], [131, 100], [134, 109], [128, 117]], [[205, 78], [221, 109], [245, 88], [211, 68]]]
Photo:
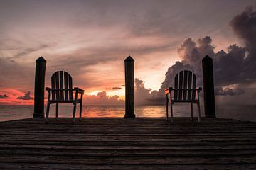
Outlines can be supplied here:
[[[220, 50], [214, 52], [215, 46], [210, 36], [198, 39], [197, 42], [192, 38], [183, 41], [178, 48], [178, 55], [182, 59], [176, 62], [166, 72], [166, 78], [156, 94], [164, 95], [164, 89], [174, 86], [175, 75], [183, 69], [194, 72], [198, 78], [197, 86], [202, 86], [201, 60], [209, 55], [213, 58], [213, 67], [215, 75], [215, 94], [220, 96], [234, 96], [245, 94], [243, 89], [232, 86], [233, 84], [250, 84], [256, 80], [256, 12], [252, 7], [246, 8], [240, 15], [235, 16], [230, 21], [230, 26], [234, 33], [242, 38], [245, 47], [230, 45], [227, 52]], [[144, 89], [143, 82], [141, 89], [144, 96], [151, 101], [159, 101], [152, 98], [150, 89]], [[231, 85], [231, 86], [230, 86]], [[226, 87], [230, 86], [230, 87]], [[141, 90], [142, 91], [142, 90]]]

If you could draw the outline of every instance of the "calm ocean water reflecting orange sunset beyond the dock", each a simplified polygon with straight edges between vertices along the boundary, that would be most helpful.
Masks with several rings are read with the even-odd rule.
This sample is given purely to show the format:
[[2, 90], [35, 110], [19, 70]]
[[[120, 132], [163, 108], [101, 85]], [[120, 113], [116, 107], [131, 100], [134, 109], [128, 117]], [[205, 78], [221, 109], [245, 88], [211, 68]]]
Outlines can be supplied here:
[[[137, 117], [165, 117], [166, 106], [136, 106], [135, 114]], [[46, 110], [45, 110], [46, 111]], [[77, 114], [79, 115], [79, 107]], [[119, 117], [124, 116], [124, 106], [83, 106], [82, 117]], [[193, 107], [194, 116], [197, 116], [196, 105]], [[202, 116], [204, 115], [201, 106]], [[73, 106], [59, 105], [59, 117], [72, 117]], [[232, 118], [236, 120], [256, 121], [256, 106], [252, 105], [228, 105], [216, 106], [218, 118]], [[55, 106], [50, 106], [50, 117], [55, 116]], [[177, 103], [174, 105], [175, 117], [189, 117], [190, 105], [188, 103]], [[0, 106], [0, 121], [17, 120], [33, 117], [33, 106]]]

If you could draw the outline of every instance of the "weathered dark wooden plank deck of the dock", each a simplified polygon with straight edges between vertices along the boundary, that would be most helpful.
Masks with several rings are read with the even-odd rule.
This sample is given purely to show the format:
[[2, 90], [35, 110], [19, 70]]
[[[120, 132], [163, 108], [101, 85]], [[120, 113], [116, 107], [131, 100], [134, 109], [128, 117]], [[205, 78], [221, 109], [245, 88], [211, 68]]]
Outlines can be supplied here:
[[0, 123], [0, 169], [256, 169], [256, 123], [41, 118]]

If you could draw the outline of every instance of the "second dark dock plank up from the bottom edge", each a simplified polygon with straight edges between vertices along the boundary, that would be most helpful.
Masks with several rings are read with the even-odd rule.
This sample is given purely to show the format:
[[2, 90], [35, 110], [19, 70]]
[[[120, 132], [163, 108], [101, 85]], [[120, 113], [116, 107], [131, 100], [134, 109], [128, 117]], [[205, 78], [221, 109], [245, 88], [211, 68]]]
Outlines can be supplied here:
[[1, 154], [1, 162], [16, 163], [33, 163], [33, 164], [147, 164], [147, 165], [185, 165], [185, 164], [256, 164], [256, 156], [252, 155], [220, 155], [210, 157], [210, 155], [202, 155], [201, 157], [142, 157], [142, 156], [112, 156], [112, 157], [80, 157], [71, 154], [68, 156], [35, 156], [35, 155], [10, 155]]

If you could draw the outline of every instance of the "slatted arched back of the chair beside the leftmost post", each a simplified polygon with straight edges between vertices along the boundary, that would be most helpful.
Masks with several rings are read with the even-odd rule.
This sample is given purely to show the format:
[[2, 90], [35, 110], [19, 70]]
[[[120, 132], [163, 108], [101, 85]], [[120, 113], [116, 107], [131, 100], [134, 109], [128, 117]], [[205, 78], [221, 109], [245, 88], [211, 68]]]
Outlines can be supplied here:
[[52, 91], [53, 101], [72, 101], [73, 100], [72, 77], [67, 72], [63, 72], [63, 71], [55, 72], [51, 77], [51, 88], [59, 89], [59, 90]]

